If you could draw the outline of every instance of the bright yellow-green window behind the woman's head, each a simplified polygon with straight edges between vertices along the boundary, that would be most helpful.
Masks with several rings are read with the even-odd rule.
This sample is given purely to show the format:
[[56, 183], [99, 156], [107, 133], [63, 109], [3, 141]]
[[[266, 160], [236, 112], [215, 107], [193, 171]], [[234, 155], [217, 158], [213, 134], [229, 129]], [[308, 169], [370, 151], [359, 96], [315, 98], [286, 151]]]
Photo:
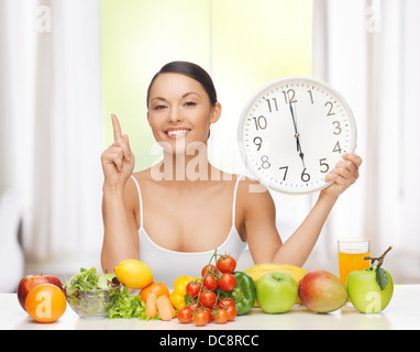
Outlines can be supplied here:
[[236, 124], [252, 94], [281, 76], [311, 73], [311, 0], [103, 0], [101, 11], [106, 143], [115, 113], [130, 132], [135, 170], [159, 158], [145, 100], [164, 64], [190, 61], [212, 76], [222, 118], [210, 157], [226, 172], [236, 172]]

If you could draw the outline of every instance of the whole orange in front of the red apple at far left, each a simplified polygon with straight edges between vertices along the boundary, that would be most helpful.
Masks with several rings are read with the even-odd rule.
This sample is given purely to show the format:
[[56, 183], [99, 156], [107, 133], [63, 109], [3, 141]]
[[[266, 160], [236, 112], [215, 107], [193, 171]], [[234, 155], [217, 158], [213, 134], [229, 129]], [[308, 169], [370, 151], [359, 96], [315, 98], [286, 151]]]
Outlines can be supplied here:
[[63, 290], [53, 284], [43, 284], [30, 290], [25, 299], [26, 312], [40, 322], [53, 322], [63, 316], [67, 300]]

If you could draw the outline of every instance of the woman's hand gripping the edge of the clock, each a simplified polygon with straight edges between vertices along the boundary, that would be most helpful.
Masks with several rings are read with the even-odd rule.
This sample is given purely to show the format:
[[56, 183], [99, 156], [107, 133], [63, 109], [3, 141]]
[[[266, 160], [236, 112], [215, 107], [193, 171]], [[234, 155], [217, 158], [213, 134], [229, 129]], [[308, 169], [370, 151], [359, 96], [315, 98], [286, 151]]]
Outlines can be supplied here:
[[333, 184], [321, 191], [331, 198], [338, 198], [358, 178], [358, 167], [362, 164], [362, 158], [353, 153], [343, 154], [342, 158], [335, 165], [335, 168], [325, 176], [325, 182], [332, 182]]

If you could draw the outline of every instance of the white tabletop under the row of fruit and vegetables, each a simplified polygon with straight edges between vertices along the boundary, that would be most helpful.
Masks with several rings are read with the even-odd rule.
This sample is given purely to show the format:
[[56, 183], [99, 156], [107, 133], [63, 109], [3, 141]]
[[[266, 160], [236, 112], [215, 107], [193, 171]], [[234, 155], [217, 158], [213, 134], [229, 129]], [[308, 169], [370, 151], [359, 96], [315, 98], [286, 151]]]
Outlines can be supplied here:
[[[225, 324], [172, 321], [141, 321], [137, 319], [80, 319], [67, 306], [63, 317], [53, 323], [32, 320], [19, 305], [15, 294], [0, 294], [0, 330], [420, 330], [420, 285], [397, 285], [389, 306], [380, 314], [363, 315], [351, 307], [331, 314], [313, 314], [295, 306], [287, 314], [267, 315], [259, 308], [239, 316]], [[226, 332], [229, 333], [229, 332]]]

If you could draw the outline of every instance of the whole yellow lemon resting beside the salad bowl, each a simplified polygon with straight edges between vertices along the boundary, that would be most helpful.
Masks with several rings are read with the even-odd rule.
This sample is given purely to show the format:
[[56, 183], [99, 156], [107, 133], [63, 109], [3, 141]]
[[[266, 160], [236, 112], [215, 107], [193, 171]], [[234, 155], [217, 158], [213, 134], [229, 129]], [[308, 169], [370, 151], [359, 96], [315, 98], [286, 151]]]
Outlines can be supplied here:
[[140, 289], [153, 282], [151, 268], [141, 261], [122, 261], [114, 271], [118, 280], [129, 288]]

